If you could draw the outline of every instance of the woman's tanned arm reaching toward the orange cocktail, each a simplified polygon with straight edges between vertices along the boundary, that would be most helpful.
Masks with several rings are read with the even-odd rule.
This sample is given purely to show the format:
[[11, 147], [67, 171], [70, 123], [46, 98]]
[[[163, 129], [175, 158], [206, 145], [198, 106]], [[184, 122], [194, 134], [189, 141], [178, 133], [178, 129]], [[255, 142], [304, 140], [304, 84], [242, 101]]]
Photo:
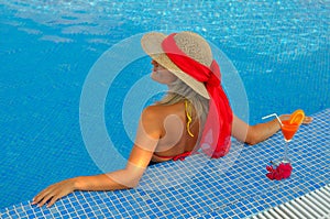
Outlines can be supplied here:
[[[288, 116], [283, 114], [279, 118], [283, 119], [284, 117]], [[306, 117], [304, 123], [310, 123], [311, 121], [311, 117]], [[277, 119], [265, 123], [249, 125], [248, 123], [239, 119], [237, 116], [233, 116], [232, 135], [239, 141], [245, 142], [250, 145], [257, 144], [268, 139], [278, 130], [280, 130], [280, 124], [277, 121]]]

